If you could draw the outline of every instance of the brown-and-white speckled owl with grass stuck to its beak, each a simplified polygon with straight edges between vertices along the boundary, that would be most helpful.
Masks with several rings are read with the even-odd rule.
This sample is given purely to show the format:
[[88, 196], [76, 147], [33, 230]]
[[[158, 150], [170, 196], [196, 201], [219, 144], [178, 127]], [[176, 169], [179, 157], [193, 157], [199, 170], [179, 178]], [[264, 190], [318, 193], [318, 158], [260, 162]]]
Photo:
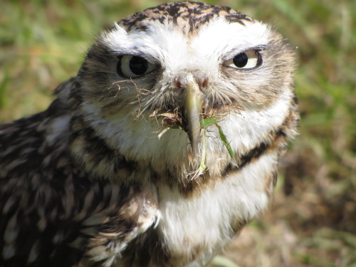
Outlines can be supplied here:
[[206, 266], [268, 208], [294, 49], [226, 6], [103, 31], [47, 110], [0, 125], [0, 266]]

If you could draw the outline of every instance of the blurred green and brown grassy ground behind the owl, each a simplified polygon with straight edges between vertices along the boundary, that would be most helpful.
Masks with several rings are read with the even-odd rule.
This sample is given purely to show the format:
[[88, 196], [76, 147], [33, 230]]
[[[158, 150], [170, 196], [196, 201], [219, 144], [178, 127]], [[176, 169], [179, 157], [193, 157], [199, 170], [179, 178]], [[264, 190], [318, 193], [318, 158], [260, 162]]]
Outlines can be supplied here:
[[[0, 122], [46, 109], [100, 29], [164, 1], [0, 1]], [[297, 48], [300, 135], [270, 211], [214, 266], [356, 266], [356, 1], [221, 0]], [[230, 261], [229, 261], [230, 260]]]

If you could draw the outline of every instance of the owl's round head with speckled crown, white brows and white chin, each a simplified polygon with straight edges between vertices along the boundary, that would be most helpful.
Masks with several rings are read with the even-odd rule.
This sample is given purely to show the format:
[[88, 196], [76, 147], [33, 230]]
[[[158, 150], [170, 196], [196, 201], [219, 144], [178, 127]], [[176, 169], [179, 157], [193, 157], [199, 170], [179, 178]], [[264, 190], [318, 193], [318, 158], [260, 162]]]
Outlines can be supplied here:
[[204, 131], [201, 120], [216, 118], [244, 155], [286, 117], [292, 72], [293, 50], [265, 24], [225, 7], [167, 4], [98, 38], [78, 74], [80, 109], [127, 159], [156, 172], [182, 162], [185, 175], [204, 152], [219, 175], [231, 156], [219, 128]]

